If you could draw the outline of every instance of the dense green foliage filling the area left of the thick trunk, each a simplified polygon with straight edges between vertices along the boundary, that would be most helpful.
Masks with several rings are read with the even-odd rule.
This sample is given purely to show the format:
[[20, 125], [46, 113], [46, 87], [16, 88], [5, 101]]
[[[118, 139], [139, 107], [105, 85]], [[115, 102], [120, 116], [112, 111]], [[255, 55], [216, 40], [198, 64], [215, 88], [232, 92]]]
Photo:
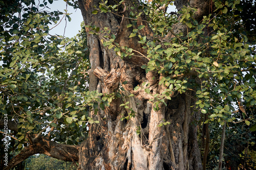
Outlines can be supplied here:
[[[45, 10], [47, 4], [0, 1], [0, 111], [18, 123], [13, 149], [27, 145], [26, 134], [47, 135], [52, 127], [58, 133], [51, 131], [50, 139], [59, 142], [77, 144], [87, 133], [81, 95], [88, 91], [90, 69], [86, 33], [50, 35], [60, 17], [71, 18], [67, 11]], [[83, 120], [79, 125], [77, 118]]]

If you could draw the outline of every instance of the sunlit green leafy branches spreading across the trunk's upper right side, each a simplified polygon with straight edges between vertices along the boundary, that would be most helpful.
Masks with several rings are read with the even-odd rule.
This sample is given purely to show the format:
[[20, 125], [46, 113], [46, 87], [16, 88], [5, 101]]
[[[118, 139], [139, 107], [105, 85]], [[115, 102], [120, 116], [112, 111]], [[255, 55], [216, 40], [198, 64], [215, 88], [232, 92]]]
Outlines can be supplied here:
[[[114, 13], [117, 6], [106, 6], [107, 2], [101, 3], [100, 9], [93, 13]], [[165, 1], [161, 3], [168, 4]], [[246, 3], [250, 4], [244, 2]], [[121, 4], [122, 1], [119, 5]], [[146, 57], [150, 59], [142, 68], [146, 72], [157, 71], [163, 75], [159, 85], [164, 84], [167, 87], [162, 94], [158, 94], [158, 98], [155, 98], [158, 99], [156, 102], [164, 102], [163, 99], [171, 100], [170, 94], [173, 92], [195, 91], [195, 109], [204, 114], [208, 113], [210, 118], [217, 119], [221, 125], [224, 122], [232, 122], [232, 111], [236, 110], [234, 106], [239, 106], [238, 100], [242, 99], [247, 107], [256, 104], [254, 34], [251, 34], [253, 30], [244, 27], [248, 20], [242, 19], [241, 4], [240, 1], [216, 1], [216, 13], [204, 16], [200, 23], [194, 19], [197, 9], [183, 7], [179, 11], [179, 22], [187, 26], [187, 35], [184, 36], [183, 32], [178, 35], [172, 33], [172, 24], [177, 22], [175, 17], [163, 16], [164, 13], [160, 12], [152, 18], [153, 15], [147, 13], [148, 9], [157, 12], [159, 4], [153, 1], [152, 4], [147, 4], [150, 6], [147, 7], [142, 3], [138, 9], [144, 9], [145, 13], [150, 15], [147, 22], [156, 23], [152, 25], [153, 30], [156, 30], [153, 40], [146, 39], [146, 36], [142, 37], [138, 33], [145, 27], [137, 25], [136, 22], [142, 12], [130, 14], [135, 20], [133, 24], [127, 25], [127, 28], [133, 27], [130, 38], [140, 38], [139, 43], [147, 49]], [[166, 18], [170, 21], [166, 21]], [[99, 28], [87, 27], [92, 29], [91, 34], [103, 34], [103, 44], [109, 48], [115, 47], [121, 58], [134, 55], [135, 51], [132, 48], [120, 46], [115, 42], [115, 34], [108, 28], [104, 28], [99, 34]], [[237, 28], [240, 28], [239, 32]], [[159, 36], [168, 32], [174, 34], [173, 38], [168, 42], [160, 41]], [[135, 87], [135, 90], [137, 89], [138, 87]], [[145, 92], [151, 93], [147, 88]], [[246, 121], [246, 124], [250, 123]]]

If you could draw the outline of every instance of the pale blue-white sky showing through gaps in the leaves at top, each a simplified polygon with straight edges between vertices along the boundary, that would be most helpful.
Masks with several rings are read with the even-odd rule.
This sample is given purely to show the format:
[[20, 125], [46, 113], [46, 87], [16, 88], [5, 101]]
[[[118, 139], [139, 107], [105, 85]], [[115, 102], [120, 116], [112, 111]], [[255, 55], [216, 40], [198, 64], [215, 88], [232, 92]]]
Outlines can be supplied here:
[[[58, 1], [55, 0], [53, 4], [48, 4], [48, 7], [51, 9], [51, 11], [59, 10], [65, 13], [64, 10], [66, 9], [66, 3], [63, 0], [58, 0]], [[170, 6], [167, 12], [170, 12], [170, 11], [174, 12], [175, 9], [176, 9], [175, 6]], [[80, 27], [81, 22], [83, 21], [81, 11], [79, 9], [75, 10], [71, 6], [68, 6], [67, 10], [68, 10], [68, 13], [70, 13], [71, 21], [69, 22], [67, 19], [66, 30], [65, 30], [66, 21], [64, 20], [65, 18], [63, 18], [62, 21], [59, 23], [59, 25], [51, 30], [50, 32], [51, 35], [55, 35], [55, 34], [63, 35], [64, 30], [65, 30], [65, 36], [69, 38], [74, 37], [76, 34], [78, 34], [79, 30], [81, 29]], [[52, 27], [54, 27], [54, 25], [52, 25]]]

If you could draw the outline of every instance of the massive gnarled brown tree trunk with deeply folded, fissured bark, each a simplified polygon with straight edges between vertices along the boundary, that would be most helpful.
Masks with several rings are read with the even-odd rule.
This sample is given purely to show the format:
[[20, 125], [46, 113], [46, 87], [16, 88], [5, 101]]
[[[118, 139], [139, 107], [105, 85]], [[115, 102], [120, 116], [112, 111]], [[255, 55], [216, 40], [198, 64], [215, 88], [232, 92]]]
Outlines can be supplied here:
[[[110, 107], [100, 110], [97, 115], [91, 112], [91, 117], [99, 120], [99, 124], [89, 126], [89, 137], [84, 141], [79, 150], [79, 169], [203, 169], [200, 150], [197, 142], [197, 126], [199, 113], [193, 111], [195, 100], [191, 92], [173, 95], [171, 101], [166, 101], [167, 106], [160, 103], [156, 111], [153, 103], [148, 102], [154, 94], [161, 93], [166, 87], [158, 85], [163, 75], [157, 72], [145, 72], [141, 68], [149, 60], [146, 50], [138, 43], [138, 37], [129, 38], [133, 28], [127, 28], [131, 23], [129, 13], [133, 10], [142, 12], [135, 7], [137, 1], [124, 1], [125, 7], [119, 7], [118, 15], [113, 13], [92, 14], [95, 6], [98, 8], [100, 0], [79, 0], [85, 25], [96, 26], [102, 31], [105, 27], [116, 35], [115, 42], [121, 46], [134, 49], [134, 56], [121, 59], [114, 51], [102, 44], [100, 35], [88, 34], [87, 40], [90, 47], [90, 90], [98, 90], [111, 94], [120, 87], [120, 83], [127, 81], [122, 87], [125, 89], [124, 98], [115, 98]], [[116, 1], [108, 1], [114, 5]], [[187, 1], [176, 1], [178, 10]], [[189, 1], [190, 6], [197, 8], [196, 18], [200, 21], [203, 15], [208, 15], [209, 4], [207, 0]], [[126, 10], [124, 10], [126, 8]], [[122, 17], [123, 16], [123, 17]], [[137, 27], [145, 28], [138, 33], [150, 39], [153, 32], [142, 14], [137, 20]], [[184, 32], [183, 25], [176, 25], [174, 33]], [[87, 32], [90, 30], [87, 29]], [[168, 37], [173, 35], [168, 35]], [[143, 89], [134, 90], [134, 87], [143, 82], [150, 83], [149, 95]], [[134, 96], [129, 96], [134, 94]], [[135, 112], [135, 117], [121, 120], [131, 110], [120, 107], [120, 104], [130, 102], [128, 105]], [[159, 126], [166, 120], [170, 125]], [[136, 131], [141, 133], [137, 135]]]

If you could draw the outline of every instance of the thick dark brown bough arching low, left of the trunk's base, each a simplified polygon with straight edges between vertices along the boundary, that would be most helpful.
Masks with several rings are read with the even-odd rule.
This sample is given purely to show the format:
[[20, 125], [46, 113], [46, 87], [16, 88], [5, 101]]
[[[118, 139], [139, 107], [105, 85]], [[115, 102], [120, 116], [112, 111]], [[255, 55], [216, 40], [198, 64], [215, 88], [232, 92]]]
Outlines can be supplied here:
[[46, 139], [42, 136], [39, 136], [38, 138], [36, 138], [35, 141], [33, 141], [32, 144], [24, 148], [22, 151], [20, 151], [18, 155], [13, 157], [8, 165], [4, 168], [4, 170], [15, 167], [17, 164], [24, 161], [29, 156], [35, 154], [45, 154], [56, 159], [77, 162], [79, 160], [79, 148], [79, 146], [60, 144], [55, 141]]

